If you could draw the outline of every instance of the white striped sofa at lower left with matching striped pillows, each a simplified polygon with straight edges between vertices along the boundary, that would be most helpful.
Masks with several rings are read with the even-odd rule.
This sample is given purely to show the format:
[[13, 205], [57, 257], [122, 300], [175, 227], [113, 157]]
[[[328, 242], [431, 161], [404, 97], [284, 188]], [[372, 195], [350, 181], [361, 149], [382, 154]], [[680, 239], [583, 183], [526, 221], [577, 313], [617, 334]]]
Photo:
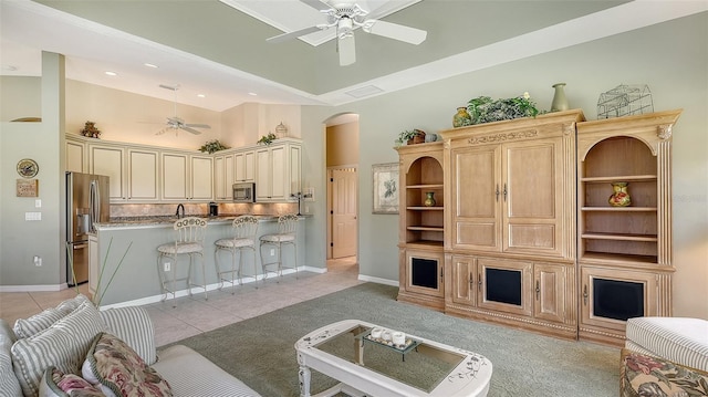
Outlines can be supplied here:
[[[91, 347], [91, 344], [85, 345], [85, 341], [95, 339], [95, 336], [102, 332], [117, 336], [133, 348], [146, 365], [157, 370], [163, 379], [167, 380], [174, 396], [259, 396], [241, 380], [184, 345], [174, 345], [157, 352], [153, 323], [143, 307], [97, 311], [83, 295], [70, 301], [42, 312], [42, 315], [46, 314], [44, 317], [33, 316], [40, 316], [39, 324], [33, 324], [30, 321], [33, 318], [31, 317], [19, 320], [11, 328], [0, 318], [0, 397], [38, 396], [40, 391], [42, 396], [65, 396], [63, 391], [45, 394], [44, 390], [39, 389], [39, 386], [28, 385], [27, 378], [32, 374], [43, 373], [48, 364], [70, 367], [71, 373], [81, 376], [81, 365]], [[79, 301], [80, 305], [74, 301]], [[72, 306], [74, 309], [71, 309]], [[84, 314], [79, 313], [80, 311]], [[81, 318], [76, 320], [79, 317]], [[42, 327], [44, 330], [38, 331]], [[27, 336], [31, 332], [37, 333]], [[69, 343], [62, 339], [67, 335], [71, 335]], [[53, 342], [48, 342], [52, 337]], [[52, 346], [52, 343], [56, 347], [48, 348], [46, 346]], [[71, 351], [71, 348], [81, 353], [73, 354], [74, 356], [69, 357], [69, 361], [66, 357], [52, 357], [53, 351]], [[64, 363], [59, 363], [61, 361]], [[63, 372], [70, 373], [70, 370]], [[44, 380], [44, 377], [40, 379], [41, 386]]]

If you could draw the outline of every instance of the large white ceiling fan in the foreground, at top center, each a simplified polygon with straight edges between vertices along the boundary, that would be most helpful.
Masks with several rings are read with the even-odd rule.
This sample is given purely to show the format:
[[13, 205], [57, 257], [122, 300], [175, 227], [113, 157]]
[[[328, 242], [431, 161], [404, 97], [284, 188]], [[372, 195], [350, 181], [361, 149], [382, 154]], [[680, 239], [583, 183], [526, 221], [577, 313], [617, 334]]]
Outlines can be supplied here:
[[[368, 11], [361, 7], [356, 0], [301, 1], [326, 15], [326, 23], [320, 23], [294, 32], [279, 34], [267, 39], [266, 41], [269, 43], [278, 43], [317, 31], [335, 28], [337, 51], [340, 53], [340, 65], [346, 66], [356, 62], [356, 50], [354, 48], [354, 29], [356, 28], [362, 28], [366, 33], [383, 35], [385, 38], [416, 45], [424, 42], [428, 34], [425, 30], [377, 20], [369, 15]], [[358, 2], [365, 4], [364, 0], [358, 0]], [[367, 15], [372, 18], [365, 18]]]

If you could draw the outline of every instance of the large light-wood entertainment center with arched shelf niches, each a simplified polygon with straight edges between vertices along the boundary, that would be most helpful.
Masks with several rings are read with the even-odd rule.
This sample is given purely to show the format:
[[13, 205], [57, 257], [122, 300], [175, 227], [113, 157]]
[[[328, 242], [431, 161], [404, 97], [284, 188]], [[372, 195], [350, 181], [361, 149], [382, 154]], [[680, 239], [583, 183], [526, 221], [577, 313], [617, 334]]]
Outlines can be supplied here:
[[[612, 345], [626, 318], [670, 315], [679, 115], [585, 122], [573, 109], [397, 148], [398, 300]], [[608, 202], [616, 182], [631, 205]]]

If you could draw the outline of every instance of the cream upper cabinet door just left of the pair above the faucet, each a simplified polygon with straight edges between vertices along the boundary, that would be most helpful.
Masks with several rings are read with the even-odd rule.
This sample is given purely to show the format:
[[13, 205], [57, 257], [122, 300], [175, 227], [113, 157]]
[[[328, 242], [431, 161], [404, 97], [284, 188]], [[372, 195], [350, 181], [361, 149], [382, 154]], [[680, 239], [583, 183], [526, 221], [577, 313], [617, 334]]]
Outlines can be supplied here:
[[157, 194], [157, 152], [128, 149], [128, 200], [154, 201]]

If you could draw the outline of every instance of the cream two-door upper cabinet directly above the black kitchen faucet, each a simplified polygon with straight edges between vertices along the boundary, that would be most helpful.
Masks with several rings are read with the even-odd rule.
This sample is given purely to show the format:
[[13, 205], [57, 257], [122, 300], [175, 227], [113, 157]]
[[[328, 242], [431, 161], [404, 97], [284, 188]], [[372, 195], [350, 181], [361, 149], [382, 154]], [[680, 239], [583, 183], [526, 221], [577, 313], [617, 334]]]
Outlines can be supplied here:
[[212, 158], [180, 153], [162, 154], [163, 200], [211, 200]]

